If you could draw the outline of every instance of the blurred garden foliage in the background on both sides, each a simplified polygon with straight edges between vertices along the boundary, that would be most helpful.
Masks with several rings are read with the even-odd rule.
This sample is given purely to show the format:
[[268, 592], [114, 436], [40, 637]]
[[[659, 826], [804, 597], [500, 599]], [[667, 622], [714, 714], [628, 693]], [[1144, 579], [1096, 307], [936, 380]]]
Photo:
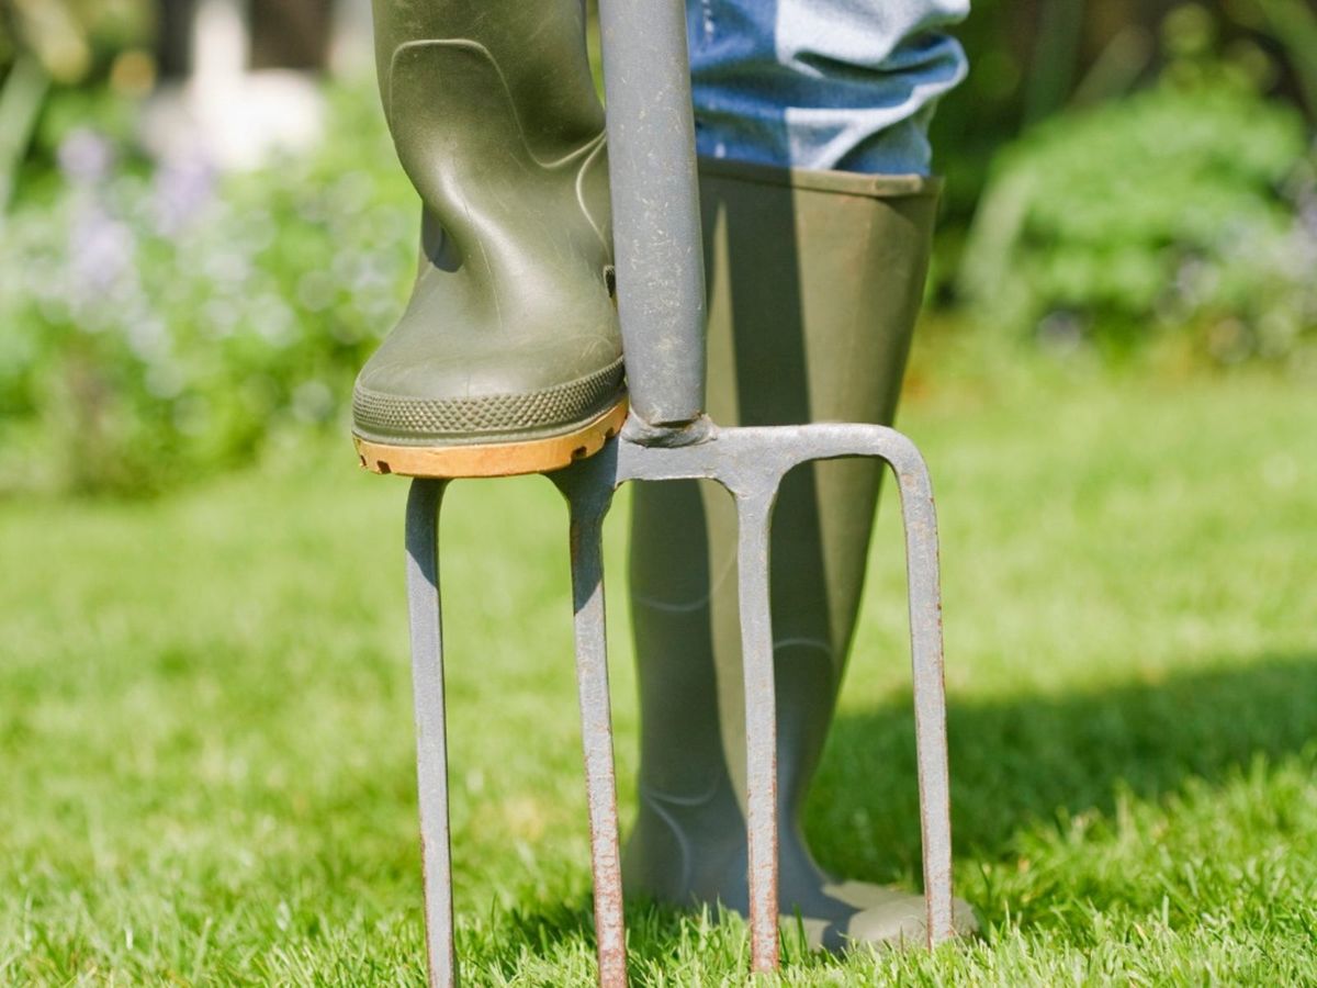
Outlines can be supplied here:
[[[230, 169], [144, 137], [178, 3], [0, 0], [0, 490], [154, 491], [345, 428], [416, 224], [369, 66], [317, 71], [340, 7], [255, 0], [250, 63], [315, 74], [323, 137]], [[976, 0], [960, 37], [934, 332], [1317, 379], [1309, 0]]]

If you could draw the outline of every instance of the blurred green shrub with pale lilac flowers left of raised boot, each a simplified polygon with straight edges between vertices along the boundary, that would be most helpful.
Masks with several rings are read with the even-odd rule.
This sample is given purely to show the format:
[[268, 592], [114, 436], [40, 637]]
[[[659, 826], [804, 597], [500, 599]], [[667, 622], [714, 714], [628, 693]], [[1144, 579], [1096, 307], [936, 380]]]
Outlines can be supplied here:
[[373, 94], [246, 175], [142, 166], [71, 129], [0, 237], [0, 489], [149, 491], [344, 428], [415, 263], [415, 194]]

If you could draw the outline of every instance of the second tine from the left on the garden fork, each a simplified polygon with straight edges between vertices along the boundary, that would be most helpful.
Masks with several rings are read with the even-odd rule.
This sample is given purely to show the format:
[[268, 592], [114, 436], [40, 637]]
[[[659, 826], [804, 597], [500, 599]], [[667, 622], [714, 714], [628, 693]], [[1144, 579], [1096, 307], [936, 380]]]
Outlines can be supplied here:
[[[594, 466], [562, 472], [554, 482], [572, 511], [572, 603], [576, 614], [577, 692], [590, 804], [590, 865], [594, 873], [594, 935], [601, 988], [626, 988], [627, 931], [618, 851], [618, 784], [608, 702], [608, 642], [603, 602], [603, 516], [612, 483]], [[583, 469], [582, 469], [583, 468]]]

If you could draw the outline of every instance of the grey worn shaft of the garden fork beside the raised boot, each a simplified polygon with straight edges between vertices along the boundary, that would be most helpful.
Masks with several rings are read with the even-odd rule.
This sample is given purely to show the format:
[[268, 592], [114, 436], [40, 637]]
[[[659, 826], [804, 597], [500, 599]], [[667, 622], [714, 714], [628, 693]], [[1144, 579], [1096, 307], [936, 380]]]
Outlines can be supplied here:
[[672, 435], [705, 411], [705, 261], [681, 0], [601, 0], [618, 314], [632, 418]]

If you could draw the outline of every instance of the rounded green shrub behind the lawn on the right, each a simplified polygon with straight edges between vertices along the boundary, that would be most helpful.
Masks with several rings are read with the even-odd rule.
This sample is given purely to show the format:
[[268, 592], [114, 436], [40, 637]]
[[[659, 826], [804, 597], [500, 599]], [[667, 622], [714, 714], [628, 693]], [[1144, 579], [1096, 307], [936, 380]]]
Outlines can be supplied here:
[[961, 261], [976, 316], [1108, 353], [1185, 333], [1234, 362], [1317, 329], [1317, 184], [1299, 115], [1226, 78], [1055, 117], [994, 167]]

